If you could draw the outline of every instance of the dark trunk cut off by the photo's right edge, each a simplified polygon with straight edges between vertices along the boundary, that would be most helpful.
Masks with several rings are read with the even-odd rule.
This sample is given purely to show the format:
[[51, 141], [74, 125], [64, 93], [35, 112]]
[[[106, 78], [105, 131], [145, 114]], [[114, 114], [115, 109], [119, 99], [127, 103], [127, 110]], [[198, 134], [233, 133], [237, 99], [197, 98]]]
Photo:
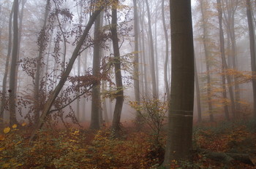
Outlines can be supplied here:
[[249, 28], [249, 46], [251, 55], [251, 67], [252, 67], [252, 92], [253, 92], [253, 116], [256, 119], [256, 53], [255, 53], [255, 34], [252, 23], [252, 5], [250, 0], [246, 0], [246, 15]]

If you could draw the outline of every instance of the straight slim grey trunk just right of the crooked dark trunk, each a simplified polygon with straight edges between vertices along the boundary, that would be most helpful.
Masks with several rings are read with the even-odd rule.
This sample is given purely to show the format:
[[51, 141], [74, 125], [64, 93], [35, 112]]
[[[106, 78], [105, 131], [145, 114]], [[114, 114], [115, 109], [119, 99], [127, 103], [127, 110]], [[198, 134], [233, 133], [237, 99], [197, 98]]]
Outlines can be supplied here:
[[[138, 23], [138, 7], [137, 0], [133, 0], [134, 7], [134, 33], [135, 33], [135, 54], [134, 54], [134, 68], [133, 68], [133, 82], [134, 82], [134, 90], [135, 90], [135, 101], [138, 105], [140, 105], [140, 82], [139, 82], [139, 23]], [[140, 111], [136, 111], [136, 119], [135, 119], [136, 127], [140, 130], [141, 127], [141, 117]]]

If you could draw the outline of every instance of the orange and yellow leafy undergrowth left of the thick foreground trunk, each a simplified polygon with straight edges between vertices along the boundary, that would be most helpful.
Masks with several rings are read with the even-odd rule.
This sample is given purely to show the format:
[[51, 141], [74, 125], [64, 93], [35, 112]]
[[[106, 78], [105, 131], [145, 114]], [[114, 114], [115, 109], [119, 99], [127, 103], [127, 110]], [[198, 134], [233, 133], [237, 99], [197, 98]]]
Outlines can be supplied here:
[[40, 130], [29, 145], [23, 128], [6, 127], [0, 137], [0, 168], [150, 168], [154, 146], [146, 133], [120, 138], [111, 130]]

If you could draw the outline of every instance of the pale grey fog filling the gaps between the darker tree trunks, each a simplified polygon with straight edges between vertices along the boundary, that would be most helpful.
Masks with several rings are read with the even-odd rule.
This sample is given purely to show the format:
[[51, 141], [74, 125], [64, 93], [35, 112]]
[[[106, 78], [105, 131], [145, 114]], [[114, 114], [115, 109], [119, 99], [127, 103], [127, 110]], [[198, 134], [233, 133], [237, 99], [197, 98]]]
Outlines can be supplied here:
[[[121, 90], [124, 90], [124, 106], [121, 109], [123, 122], [132, 121], [136, 117], [136, 110], [130, 106], [131, 101], [137, 99], [134, 90], [135, 81], [138, 82], [139, 90], [136, 91], [139, 91], [140, 101], [146, 101], [148, 98], [162, 100], [165, 95], [170, 95], [167, 93], [171, 82], [169, 1], [165, 1], [163, 9], [161, 3], [161, 1], [148, 1], [151, 17], [149, 18], [146, 2], [138, 1], [137, 31], [134, 27], [132, 1], [121, 1], [118, 9], [117, 31], [123, 84]], [[208, 120], [209, 115], [224, 119], [225, 106], [230, 117], [235, 114], [232, 111], [243, 117], [252, 114], [254, 95], [246, 7], [243, 1], [230, 3], [223, 1], [222, 4], [225, 60], [228, 70], [222, 74], [216, 1], [192, 1], [195, 61], [200, 87], [200, 91], [195, 90], [195, 121], [198, 113], [197, 97], [200, 97], [204, 120]], [[252, 9], [255, 9], [255, 4], [252, 6]], [[8, 31], [12, 1], [1, 1], [0, 7], [0, 83], [3, 88], [1, 114], [5, 123], [10, 122], [9, 94], [15, 91], [15, 118], [18, 122], [34, 123], [39, 118], [38, 113], [42, 115], [45, 104], [57, 84], [63, 83], [60, 81], [61, 76], [68, 68], [70, 58], [93, 11], [87, 1], [50, 1], [47, 7], [46, 1], [21, 0], [18, 9], [18, 62], [15, 63], [13, 81], [15, 88], [10, 89], [12, 57], [8, 58], [7, 55], [8, 50], [13, 46], [12, 42], [11, 48], [8, 47], [10, 33], [13, 38], [12, 31]], [[165, 14], [168, 49], [165, 46], [162, 10]], [[252, 11], [252, 15], [255, 16], [253, 12], [255, 11]], [[95, 86], [99, 88], [100, 105], [97, 112], [99, 121], [112, 122], [116, 93], [120, 89], [116, 85], [110, 16], [110, 7], [104, 9], [100, 15], [99, 36], [94, 34], [97, 28], [92, 25], [67, 80], [50, 107], [48, 115], [52, 122], [61, 120], [89, 124], [91, 114], [94, 113], [91, 110], [91, 100]], [[151, 25], [148, 25], [149, 22]], [[255, 25], [255, 22], [253, 24]], [[135, 50], [135, 34], [138, 34], [138, 51]], [[95, 36], [98, 39], [95, 39]], [[94, 74], [95, 44], [99, 44], [97, 50], [100, 58], [98, 70], [100, 74], [97, 76]], [[166, 50], [168, 50], [168, 60], [165, 57]], [[12, 52], [9, 53], [11, 54]], [[137, 63], [135, 54], [138, 54]], [[138, 66], [137, 72], [135, 72], [136, 66]], [[4, 74], [7, 74], [5, 80]], [[231, 81], [227, 82], [226, 78], [223, 84], [222, 76], [229, 76]], [[222, 95], [223, 85], [227, 93], [226, 98]], [[233, 93], [233, 96], [230, 93]]]

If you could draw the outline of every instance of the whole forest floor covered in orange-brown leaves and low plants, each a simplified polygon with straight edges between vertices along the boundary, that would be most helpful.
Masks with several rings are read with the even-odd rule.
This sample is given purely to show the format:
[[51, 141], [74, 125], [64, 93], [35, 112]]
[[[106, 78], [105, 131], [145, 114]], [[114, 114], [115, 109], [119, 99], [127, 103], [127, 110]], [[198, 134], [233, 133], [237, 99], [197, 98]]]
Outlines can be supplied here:
[[[165, 127], [159, 145], [148, 127], [140, 132], [122, 123], [116, 137], [108, 125], [94, 131], [44, 127], [29, 144], [31, 127], [5, 127], [0, 134], [0, 168], [157, 168], [162, 162]], [[256, 122], [196, 124], [191, 161], [170, 168], [256, 168]]]

